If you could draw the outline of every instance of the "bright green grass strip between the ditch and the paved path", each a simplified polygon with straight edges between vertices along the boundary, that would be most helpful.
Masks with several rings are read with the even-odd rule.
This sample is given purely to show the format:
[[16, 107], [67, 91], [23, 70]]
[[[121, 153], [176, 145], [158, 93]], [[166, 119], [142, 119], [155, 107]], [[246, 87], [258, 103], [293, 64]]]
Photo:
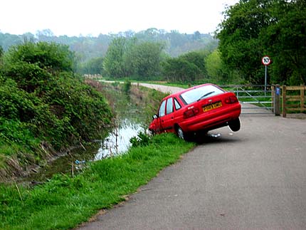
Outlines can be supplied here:
[[126, 155], [88, 164], [73, 178], [60, 174], [33, 188], [1, 184], [0, 229], [73, 228], [125, 200], [192, 147], [173, 134], [157, 135]]

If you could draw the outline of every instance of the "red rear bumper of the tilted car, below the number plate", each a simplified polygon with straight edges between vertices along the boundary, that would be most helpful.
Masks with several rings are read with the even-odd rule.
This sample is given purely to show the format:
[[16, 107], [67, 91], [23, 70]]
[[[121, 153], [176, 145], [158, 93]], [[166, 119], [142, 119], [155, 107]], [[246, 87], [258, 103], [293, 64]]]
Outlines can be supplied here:
[[196, 132], [199, 130], [213, 130], [218, 127], [226, 126], [227, 122], [235, 120], [241, 114], [241, 105], [237, 104], [230, 108], [211, 111], [197, 117], [190, 117], [181, 122], [179, 126], [184, 132]]

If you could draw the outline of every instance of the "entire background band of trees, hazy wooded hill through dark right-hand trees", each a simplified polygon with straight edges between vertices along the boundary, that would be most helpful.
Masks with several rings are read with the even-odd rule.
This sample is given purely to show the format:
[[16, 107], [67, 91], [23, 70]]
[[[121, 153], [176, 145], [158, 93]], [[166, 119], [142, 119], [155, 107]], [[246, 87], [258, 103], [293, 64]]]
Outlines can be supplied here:
[[[156, 28], [93, 37], [56, 37], [41, 31], [28, 40], [66, 43], [78, 56], [78, 73], [170, 82], [263, 84], [306, 80], [306, 1], [240, 0], [223, 12], [215, 36]], [[1, 37], [2, 36], [2, 37]], [[0, 33], [0, 42], [6, 35]], [[14, 36], [16, 41], [16, 36]], [[0, 43], [2, 46], [2, 44]], [[6, 51], [6, 46], [3, 46]]]

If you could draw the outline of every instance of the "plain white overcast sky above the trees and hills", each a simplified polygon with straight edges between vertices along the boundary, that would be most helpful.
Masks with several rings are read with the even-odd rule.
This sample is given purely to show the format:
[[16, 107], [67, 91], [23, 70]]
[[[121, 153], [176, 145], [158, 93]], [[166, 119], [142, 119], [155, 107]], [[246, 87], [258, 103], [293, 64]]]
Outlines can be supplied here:
[[0, 0], [1, 33], [51, 29], [56, 36], [98, 36], [147, 28], [213, 33], [238, 0]]

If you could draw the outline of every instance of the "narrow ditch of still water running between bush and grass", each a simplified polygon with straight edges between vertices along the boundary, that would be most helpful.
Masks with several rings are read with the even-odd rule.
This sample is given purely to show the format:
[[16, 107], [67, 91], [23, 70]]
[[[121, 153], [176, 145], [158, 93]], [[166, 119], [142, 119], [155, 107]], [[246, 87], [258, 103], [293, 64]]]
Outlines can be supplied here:
[[34, 170], [25, 179], [26, 182], [42, 182], [57, 173], [75, 174], [88, 162], [122, 155], [131, 146], [130, 138], [137, 136], [139, 132], [146, 132], [147, 117], [142, 113], [144, 105], [137, 98], [114, 88], [108, 89], [107, 94], [115, 110], [115, 127], [108, 135], [90, 145], [74, 147], [46, 166]]

